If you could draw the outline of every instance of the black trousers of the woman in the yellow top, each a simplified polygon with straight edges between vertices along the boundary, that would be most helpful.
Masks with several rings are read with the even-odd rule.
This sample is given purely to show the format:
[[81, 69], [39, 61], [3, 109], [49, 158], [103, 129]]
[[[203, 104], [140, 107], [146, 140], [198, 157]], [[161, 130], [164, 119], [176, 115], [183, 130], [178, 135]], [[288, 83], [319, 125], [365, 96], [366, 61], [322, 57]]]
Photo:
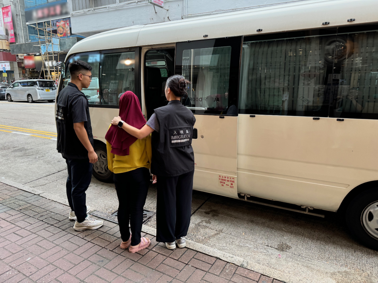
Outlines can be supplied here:
[[122, 241], [128, 241], [130, 238], [130, 221], [131, 245], [136, 246], [141, 242], [143, 206], [150, 184], [150, 171], [141, 167], [114, 174], [114, 184], [119, 202], [117, 217]]

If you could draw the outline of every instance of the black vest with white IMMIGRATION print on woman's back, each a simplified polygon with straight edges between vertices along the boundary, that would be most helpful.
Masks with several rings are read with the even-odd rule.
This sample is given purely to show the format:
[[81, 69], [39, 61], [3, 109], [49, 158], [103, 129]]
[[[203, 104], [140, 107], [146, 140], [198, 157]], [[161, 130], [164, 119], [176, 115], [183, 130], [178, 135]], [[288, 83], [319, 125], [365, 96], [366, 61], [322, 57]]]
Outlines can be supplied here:
[[192, 148], [195, 118], [180, 100], [155, 109], [160, 125], [159, 132], [152, 132], [151, 173], [174, 177], [194, 170]]

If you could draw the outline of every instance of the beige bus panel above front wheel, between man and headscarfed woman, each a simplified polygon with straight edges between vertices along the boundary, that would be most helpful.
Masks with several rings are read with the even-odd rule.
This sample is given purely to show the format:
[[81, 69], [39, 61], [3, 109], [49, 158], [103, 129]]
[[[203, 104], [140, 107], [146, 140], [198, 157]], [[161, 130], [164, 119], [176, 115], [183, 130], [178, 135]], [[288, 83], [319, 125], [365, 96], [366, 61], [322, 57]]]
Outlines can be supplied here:
[[106, 143], [105, 134], [108, 131], [110, 122], [117, 117], [119, 109], [90, 107], [89, 114], [91, 116], [92, 134], [95, 140], [101, 140]]

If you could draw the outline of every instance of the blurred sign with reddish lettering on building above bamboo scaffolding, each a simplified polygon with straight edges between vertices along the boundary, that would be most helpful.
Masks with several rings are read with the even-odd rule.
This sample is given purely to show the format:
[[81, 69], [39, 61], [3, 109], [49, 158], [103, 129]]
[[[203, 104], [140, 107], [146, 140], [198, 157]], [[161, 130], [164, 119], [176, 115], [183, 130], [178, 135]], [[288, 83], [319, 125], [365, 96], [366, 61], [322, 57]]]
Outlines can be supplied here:
[[48, 3], [46, 5], [37, 6], [38, 8], [25, 11], [26, 23], [43, 22], [47, 20], [54, 20], [57, 18], [65, 18], [70, 15], [70, 9], [68, 3]]

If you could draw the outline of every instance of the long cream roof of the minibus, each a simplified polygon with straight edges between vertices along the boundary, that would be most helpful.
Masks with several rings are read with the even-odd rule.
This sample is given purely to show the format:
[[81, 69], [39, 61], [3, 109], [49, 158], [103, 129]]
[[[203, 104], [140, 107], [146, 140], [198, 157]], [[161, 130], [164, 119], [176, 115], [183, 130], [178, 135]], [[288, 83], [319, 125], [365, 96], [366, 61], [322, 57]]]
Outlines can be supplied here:
[[[150, 46], [237, 35], [378, 22], [376, 0], [308, 0], [172, 22], [128, 26], [92, 35], [68, 52]], [[355, 18], [353, 22], [347, 19]], [[322, 25], [323, 22], [328, 25]], [[257, 29], [262, 31], [257, 32]]]

